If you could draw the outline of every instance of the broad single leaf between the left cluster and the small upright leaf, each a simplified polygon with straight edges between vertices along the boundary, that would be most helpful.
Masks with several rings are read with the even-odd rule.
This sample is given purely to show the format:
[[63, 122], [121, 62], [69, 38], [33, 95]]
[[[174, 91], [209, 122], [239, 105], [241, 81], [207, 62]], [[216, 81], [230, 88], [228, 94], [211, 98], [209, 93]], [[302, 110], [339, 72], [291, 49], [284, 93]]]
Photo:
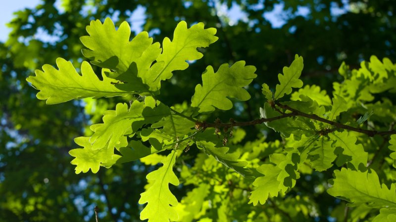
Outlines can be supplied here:
[[250, 99], [249, 93], [243, 87], [257, 76], [255, 71], [254, 66], [245, 66], [245, 61], [238, 61], [231, 67], [223, 64], [216, 73], [208, 66], [202, 74], [202, 85], [195, 87], [191, 106], [199, 108], [201, 113], [214, 111], [215, 108], [230, 110], [232, 102], [227, 97], [242, 101]]

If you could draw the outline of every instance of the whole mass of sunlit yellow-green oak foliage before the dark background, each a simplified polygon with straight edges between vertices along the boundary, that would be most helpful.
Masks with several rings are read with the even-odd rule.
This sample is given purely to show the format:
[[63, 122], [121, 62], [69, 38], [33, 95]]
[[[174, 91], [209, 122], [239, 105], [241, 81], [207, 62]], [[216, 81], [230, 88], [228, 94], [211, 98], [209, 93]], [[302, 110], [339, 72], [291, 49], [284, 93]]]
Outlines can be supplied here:
[[[95, 118], [90, 127], [93, 133], [87, 132], [90, 136], [75, 139], [83, 147], [69, 151], [75, 157], [71, 163], [76, 165], [76, 173], [90, 169], [97, 173], [100, 166], [110, 168], [131, 161], [150, 165], [148, 185], [139, 200], [139, 204], [147, 203], [140, 208], [140, 219], [149, 222], [282, 221], [291, 216], [299, 221], [313, 220], [319, 214], [316, 203], [308, 196], [294, 198], [289, 192], [301, 188], [298, 183], [306, 183], [307, 176], [321, 175], [323, 181], [325, 173], [331, 172], [334, 178], [326, 179], [333, 186], [318, 185], [317, 195], [325, 195], [328, 188], [330, 195], [351, 202], [348, 206], [356, 207], [355, 215], [376, 216], [375, 220], [392, 218], [393, 211], [388, 208], [396, 208], [396, 186], [393, 179], [375, 173], [382, 165], [375, 156], [385, 155], [377, 149], [386, 146], [389, 135], [389, 149], [396, 151], [394, 123], [386, 121], [396, 116], [384, 111], [394, 108], [392, 101], [376, 101], [374, 94], [381, 96], [396, 90], [394, 65], [388, 59], [381, 63], [376, 57], [362, 63], [359, 70], [349, 71], [343, 64], [340, 73], [345, 80], [334, 83], [330, 99], [330, 94], [319, 86], [301, 88], [301, 56], [296, 55], [290, 67], [284, 67], [283, 74], [278, 75], [275, 93], [267, 83], [249, 88], [257, 77], [256, 68], [236, 61], [232, 66], [221, 65], [216, 73], [207, 66], [190, 105], [159, 101], [161, 80], [170, 79], [176, 70], [186, 70], [187, 60], [203, 56], [198, 48], [217, 40], [215, 29], [203, 27], [198, 23], [187, 28], [186, 22], [180, 22], [173, 40], [165, 37], [161, 50], [146, 32], [130, 41], [126, 22], [116, 30], [110, 19], [104, 23], [93, 21], [87, 27], [89, 36], [81, 41], [88, 47], [83, 54], [101, 68], [102, 81], [87, 62], [83, 62], [83, 75], [79, 75], [71, 63], [60, 58], [59, 71], [45, 65], [44, 72], [36, 71], [36, 76], [28, 78], [41, 90], [37, 97], [47, 99], [49, 104], [86, 97], [139, 95], [130, 105], [114, 103], [115, 110], [104, 111], [102, 123], [98, 123], [98, 116]], [[91, 78], [92, 84], [88, 83]], [[68, 90], [58, 96], [57, 85]], [[222, 122], [222, 111], [234, 107], [238, 113], [248, 109], [244, 106], [252, 99], [249, 93], [259, 85], [264, 95], [260, 96], [260, 106], [264, 104], [260, 118], [257, 114], [256, 119], [245, 122], [232, 118]], [[93, 88], [98, 87], [102, 91], [94, 93]], [[294, 88], [298, 90], [293, 92]], [[290, 95], [290, 100], [285, 95]], [[90, 102], [87, 107], [94, 108], [94, 104]], [[363, 116], [353, 117], [359, 115]], [[240, 128], [249, 125], [267, 133], [271, 128], [280, 133], [283, 142], [265, 142], [262, 134], [249, 142], [254, 135]], [[380, 140], [382, 147], [377, 146]], [[190, 149], [198, 152], [192, 161]], [[395, 159], [394, 153], [390, 156]], [[163, 165], [153, 170], [159, 162]], [[385, 181], [382, 185], [380, 177]], [[183, 185], [193, 187], [184, 192], [187, 195], [180, 203], [175, 193], [184, 186], [173, 187], [173, 193], [169, 188], [169, 184], [178, 186], [179, 178]], [[263, 211], [258, 204], [272, 208]], [[372, 213], [372, 208], [381, 209], [380, 214]]]

